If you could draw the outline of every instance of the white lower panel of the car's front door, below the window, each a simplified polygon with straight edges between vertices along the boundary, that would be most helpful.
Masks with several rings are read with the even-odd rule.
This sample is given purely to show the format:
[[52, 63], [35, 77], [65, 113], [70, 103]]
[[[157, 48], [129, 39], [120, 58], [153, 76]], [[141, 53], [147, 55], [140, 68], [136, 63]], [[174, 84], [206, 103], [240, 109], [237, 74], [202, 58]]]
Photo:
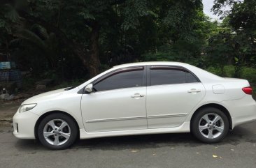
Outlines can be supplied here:
[[[135, 93], [142, 98], [131, 98]], [[83, 94], [81, 111], [87, 132], [147, 129], [146, 87]], [[129, 107], [126, 107], [130, 105]]]

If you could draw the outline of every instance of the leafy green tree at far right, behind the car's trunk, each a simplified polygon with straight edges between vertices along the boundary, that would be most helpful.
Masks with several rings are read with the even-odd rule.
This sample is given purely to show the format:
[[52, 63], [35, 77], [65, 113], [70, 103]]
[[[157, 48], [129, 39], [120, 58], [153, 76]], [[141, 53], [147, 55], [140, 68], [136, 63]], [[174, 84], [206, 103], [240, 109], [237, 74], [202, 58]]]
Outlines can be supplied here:
[[[223, 10], [230, 6], [231, 10]], [[241, 77], [242, 67], [255, 64], [256, 2], [252, 0], [215, 0], [213, 11], [225, 18], [208, 40], [209, 60], [225, 66], [234, 64], [234, 77]]]

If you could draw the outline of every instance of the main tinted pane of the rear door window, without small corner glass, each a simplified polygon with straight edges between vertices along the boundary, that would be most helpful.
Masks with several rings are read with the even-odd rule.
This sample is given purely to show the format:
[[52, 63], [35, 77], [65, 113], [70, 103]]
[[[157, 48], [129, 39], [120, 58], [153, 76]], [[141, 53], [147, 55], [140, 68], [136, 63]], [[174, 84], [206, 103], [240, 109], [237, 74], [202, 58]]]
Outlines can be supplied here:
[[172, 69], [150, 71], [151, 85], [186, 83], [186, 72]]

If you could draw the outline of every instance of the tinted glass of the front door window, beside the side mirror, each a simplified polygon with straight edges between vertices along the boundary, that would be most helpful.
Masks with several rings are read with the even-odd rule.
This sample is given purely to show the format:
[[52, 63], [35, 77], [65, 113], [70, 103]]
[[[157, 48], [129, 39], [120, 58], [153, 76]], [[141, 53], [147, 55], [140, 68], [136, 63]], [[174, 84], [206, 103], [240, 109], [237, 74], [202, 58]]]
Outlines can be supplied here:
[[142, 86], [143, 70], [120, 72], [94, 85], [96, 91]]

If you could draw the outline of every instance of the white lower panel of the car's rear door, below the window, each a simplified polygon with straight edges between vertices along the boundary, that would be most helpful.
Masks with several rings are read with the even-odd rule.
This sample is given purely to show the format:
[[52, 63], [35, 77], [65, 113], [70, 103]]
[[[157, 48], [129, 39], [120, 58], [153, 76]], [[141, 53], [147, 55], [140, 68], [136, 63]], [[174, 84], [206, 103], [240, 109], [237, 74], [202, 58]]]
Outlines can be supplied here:
[[[199, 92], [188, 93], [192, 89]], [[148, 128], [180, 126], [204, 95], [205, 89], [201, 83], [148, 86], [146, 105]]]

